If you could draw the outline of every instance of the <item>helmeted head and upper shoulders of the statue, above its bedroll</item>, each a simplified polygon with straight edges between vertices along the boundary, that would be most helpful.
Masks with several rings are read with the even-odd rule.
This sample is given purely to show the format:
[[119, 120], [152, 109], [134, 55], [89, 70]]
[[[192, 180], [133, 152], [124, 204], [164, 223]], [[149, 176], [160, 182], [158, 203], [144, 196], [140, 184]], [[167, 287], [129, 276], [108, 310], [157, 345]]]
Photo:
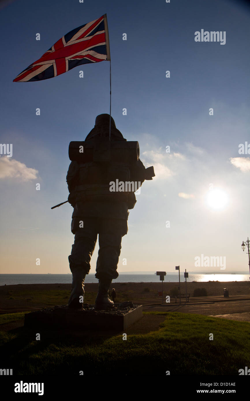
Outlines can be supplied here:
[[[111, 126], [111, 129], [110, 129]], [[99, 114], [96, 117], [96, 122], [94, 128], [89, 132], [86, 136], [85, 141], [96, 138], [98, 136], [109, 136], [111, 140], [116, 141], [126, 141], [123, 138], [122, 133], [116, 128], [116, 124], [114, 119], [111, 117], [111, 124], [110, 124], [110, 115], [109, 114]]]

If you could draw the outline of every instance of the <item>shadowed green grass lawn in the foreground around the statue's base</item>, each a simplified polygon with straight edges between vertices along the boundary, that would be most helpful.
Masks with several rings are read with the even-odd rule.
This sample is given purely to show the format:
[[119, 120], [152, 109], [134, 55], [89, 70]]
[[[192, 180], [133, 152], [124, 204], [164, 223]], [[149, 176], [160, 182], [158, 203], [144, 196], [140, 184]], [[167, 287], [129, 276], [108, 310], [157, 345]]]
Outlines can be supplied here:
[[[15, 375], [238, 375], [250, 366], [248, 322], [236, 322], [177, 312], [165, 315], [157, 331], [122, 332], [114, 336], [65, 335], [18, 328], [0, 332], [2, 367]], [[23, 313], [0, 316], [0, 324], [24, 318]], [[1, 326], [0, 326], [1, 330]], [[126, 330], [125, 330], [126, 332]], [[209, 340], [209, 334], [213, 340]]]

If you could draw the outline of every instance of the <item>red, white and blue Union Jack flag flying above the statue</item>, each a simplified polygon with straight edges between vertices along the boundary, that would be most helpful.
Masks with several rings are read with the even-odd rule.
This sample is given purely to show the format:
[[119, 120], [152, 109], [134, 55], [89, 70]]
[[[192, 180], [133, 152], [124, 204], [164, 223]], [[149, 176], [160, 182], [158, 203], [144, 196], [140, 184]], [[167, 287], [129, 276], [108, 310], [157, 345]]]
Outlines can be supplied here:
[[13, 82], [41, 81], [81, 64], [110, 60], [107, 15], [71, 30]]

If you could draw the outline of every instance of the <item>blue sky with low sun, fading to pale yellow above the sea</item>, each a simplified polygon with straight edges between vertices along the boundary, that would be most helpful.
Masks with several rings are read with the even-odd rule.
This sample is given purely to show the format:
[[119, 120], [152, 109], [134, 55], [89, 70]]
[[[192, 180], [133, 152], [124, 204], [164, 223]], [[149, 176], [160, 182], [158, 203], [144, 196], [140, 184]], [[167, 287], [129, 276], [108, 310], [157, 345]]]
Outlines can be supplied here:
[[[130, 211], [118, 271], [173, 271], [175, 265], [200, 271], [205, 267], [195, 267], [195, 257], [202, 254], [225, 256], [224, 272], [248, 270], [240, 245], [250, 235], [250, 158], [238, 152], [239, 144], [250, 144], [250, 9], [244, 4], [1, 3], [0, 143], [13, 145], [12, 158], [0, 155], [2, 273], [69, 272], [73, 209], [51, 207], [67, 200], [69, 142], [84, 140], [96, 115], [109, 113], [109, 62], [40, 82], [12, 81], [61, 36], [105, 13], [112, 117], [124, 138], [138, 140], [140, 159], [156, 174], [142, 184]], [[195, 42], [201, 29], [226, 31], [226, 44]], [[218, 188], [207, 205], [209, 191]], [[223, 196], [226, 205], [217, 210]], [[98, 245], [90, 273], [97, 252]]]

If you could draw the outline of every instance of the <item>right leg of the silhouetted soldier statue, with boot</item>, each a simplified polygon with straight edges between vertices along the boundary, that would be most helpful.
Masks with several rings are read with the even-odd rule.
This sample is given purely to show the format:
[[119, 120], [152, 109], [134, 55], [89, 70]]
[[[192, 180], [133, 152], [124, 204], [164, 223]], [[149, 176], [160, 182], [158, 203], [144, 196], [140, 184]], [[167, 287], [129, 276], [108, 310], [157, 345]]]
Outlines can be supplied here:
[[128, 223], [123, 219], [102, 219], [99, 229], [99, 251], [96, 263], [96, 278], [99, 279], [96, 297], [97, 309], [114, 306], [108, 296], [112, 279], [118, 277], [117, 264], [121, 252], [122, 236], [128, 231]]

